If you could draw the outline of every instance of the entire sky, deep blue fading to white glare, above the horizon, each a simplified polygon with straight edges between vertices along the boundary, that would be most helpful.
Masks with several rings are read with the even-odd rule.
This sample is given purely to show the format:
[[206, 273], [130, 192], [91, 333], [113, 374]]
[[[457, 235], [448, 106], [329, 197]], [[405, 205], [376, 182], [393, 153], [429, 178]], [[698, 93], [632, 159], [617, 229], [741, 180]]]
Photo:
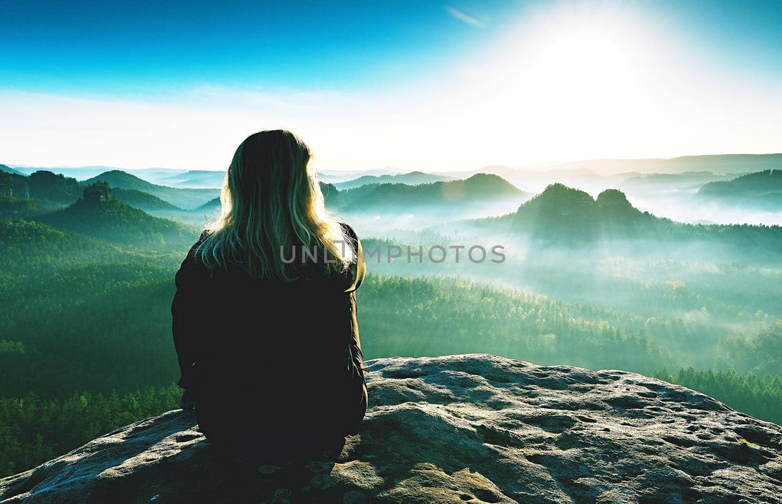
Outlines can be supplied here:
[[13, 164], [223, 167], [278, 126], [329, 169], [779, 152], [780, 95], [782, 2], [0, 2]]

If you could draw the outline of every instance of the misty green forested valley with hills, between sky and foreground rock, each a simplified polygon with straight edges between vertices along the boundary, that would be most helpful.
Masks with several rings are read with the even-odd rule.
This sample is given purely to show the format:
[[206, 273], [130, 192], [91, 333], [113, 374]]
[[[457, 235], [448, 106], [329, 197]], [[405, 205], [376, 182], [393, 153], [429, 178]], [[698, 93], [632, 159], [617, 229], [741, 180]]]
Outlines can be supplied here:
[[[779, 156], [759, 158], [755, 172], [742, 157], [722, 172], [321, 174], [364, 250], [364, 358], [624, 369], [782, 422], [782, 178]], [[174, 274], [219, 218], [224, 178], [101, 168], [0, 171], [2, 394], [98, 431], [176, 407]], [[94, 437], [80, 422], [63, 447]], [[35, 446], [13, 457], [61, 452]]]

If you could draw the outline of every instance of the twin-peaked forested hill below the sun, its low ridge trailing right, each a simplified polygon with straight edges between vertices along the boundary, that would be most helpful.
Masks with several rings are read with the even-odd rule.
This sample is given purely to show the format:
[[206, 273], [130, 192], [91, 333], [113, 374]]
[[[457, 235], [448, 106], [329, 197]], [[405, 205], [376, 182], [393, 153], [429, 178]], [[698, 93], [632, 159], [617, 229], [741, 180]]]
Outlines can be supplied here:
[[758, 254], [779, 254], [782, 228], [766, 225], [691, 225], [642, 212], [618, 189], [588, 193], [551, 184], [513, 214], [473, 221], [503, 232], [524, 232], [544, 243], [591, 245], [606, 240], [716, 240]]

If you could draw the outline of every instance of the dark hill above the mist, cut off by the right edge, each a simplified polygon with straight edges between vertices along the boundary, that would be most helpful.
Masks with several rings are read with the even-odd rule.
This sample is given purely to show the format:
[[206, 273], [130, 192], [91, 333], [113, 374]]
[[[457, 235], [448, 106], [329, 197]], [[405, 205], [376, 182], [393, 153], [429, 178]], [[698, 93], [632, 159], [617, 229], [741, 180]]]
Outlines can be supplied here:
[[782, 210], [782, 170], [764, 170], [732, 180], [709, 182], [698, 196], [724, 203]]

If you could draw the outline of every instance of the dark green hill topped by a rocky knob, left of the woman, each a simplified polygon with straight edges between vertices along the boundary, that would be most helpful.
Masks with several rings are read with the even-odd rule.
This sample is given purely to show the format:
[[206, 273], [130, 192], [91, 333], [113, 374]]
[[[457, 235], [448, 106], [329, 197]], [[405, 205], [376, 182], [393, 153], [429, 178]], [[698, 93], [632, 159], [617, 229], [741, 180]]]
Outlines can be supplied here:
[[84, 196], [63, 210], [39, 219], [56, 229], [78, 232], [133, 247], [153, 249], [187, 247], [198, 233], [193, 228], [152, 217], [138, 208], [114, 199], [105, 182], [84, 188]]

